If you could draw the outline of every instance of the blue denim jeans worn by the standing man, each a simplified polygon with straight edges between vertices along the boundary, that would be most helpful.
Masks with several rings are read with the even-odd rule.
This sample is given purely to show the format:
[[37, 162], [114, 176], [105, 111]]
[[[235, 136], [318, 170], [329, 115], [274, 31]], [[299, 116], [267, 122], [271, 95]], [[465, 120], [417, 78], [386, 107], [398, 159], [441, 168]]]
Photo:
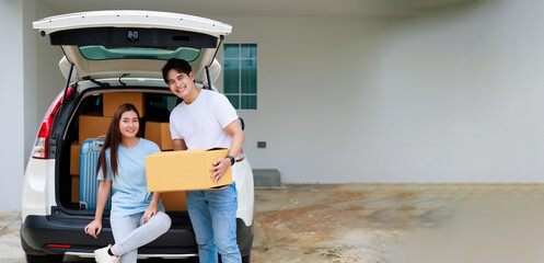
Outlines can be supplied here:
[[187, 191], [187, 210], [196, 235], [200, 263], [242, 262], [236, 243], [238, 197], [234, 184], [222, 190]]

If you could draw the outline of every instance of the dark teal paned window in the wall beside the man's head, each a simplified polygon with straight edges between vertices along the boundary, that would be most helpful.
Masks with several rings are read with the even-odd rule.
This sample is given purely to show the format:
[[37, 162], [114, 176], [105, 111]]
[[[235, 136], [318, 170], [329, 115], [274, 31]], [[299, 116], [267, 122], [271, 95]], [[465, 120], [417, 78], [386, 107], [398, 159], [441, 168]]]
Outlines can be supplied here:
[[223, 93], [236, 110], [257, 110], [257, 44], [223, 45]]

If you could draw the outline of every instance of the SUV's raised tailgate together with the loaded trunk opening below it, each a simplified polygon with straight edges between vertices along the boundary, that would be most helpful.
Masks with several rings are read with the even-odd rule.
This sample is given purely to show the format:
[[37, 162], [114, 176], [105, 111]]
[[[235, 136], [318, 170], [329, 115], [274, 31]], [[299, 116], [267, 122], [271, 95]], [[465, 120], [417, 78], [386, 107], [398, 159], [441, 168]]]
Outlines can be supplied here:
[[[61, 149], [56, 149], [57, 141], [50, 144], [51, 151], [60, 152], [58, 204], [70, 213], [94, 209], [90, 199], [95, 196], [88, 186], [95, 181], [89, 180], [93, 172], [82, 174], [91, 164], [84, 159], [89, 148], [85, 140], [105, 136], [113, 112], [128, 102], [140, 110], [140, 135], [162, 150], [172, 150], [167, 121], [177, 98], [162, 81], [161, 68], [170, 58], [184, 59], [192, 65], [196, 82], [211, 87], [220, 71], [215, 60], [217, 49], [232, 30], [213, 20], [154, 11], [71, 13], [36, 21], [33, 26], [48, 35], [51, 45], [60, 46], [65, 58], [59, 66], [67, 87], [78, 91], [71, 105], [67, 100], [62, 108], [69, 126], [57, 130], [63, 138]], [[162, 197], [170, 211], [185, 211], [183, 198], [183, 193]]]

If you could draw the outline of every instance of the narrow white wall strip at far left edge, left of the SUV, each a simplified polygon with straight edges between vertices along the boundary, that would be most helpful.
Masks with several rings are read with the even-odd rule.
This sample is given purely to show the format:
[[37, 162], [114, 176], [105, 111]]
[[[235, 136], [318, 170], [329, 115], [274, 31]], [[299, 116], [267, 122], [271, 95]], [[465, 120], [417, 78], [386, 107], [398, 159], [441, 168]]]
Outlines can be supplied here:
[[[23, 7], [21, 1], [0, 1], [0, 25], [2, 41], [0, 42], [0, 119], [2, 128], [2, 171], [0, 180], [0, 209], [21, 207], [21, 182], [24, 171], [24, 137], [23, 137], [23, 35], [21, 22]], [[9, 37], [8, 37], [9, 36]]]

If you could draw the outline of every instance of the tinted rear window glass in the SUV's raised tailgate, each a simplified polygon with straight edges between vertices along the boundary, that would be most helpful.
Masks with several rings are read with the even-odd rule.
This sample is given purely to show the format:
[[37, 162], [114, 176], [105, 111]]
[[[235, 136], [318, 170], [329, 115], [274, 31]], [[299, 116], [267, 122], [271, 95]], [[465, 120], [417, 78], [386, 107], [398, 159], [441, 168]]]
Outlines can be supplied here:
[[90, 60], [107, 59], [184, 59], [188, 62], [198, 58], [200, 49], [192, 47], [107, 47], [107, 46], [80, 46], [81, 55]]

